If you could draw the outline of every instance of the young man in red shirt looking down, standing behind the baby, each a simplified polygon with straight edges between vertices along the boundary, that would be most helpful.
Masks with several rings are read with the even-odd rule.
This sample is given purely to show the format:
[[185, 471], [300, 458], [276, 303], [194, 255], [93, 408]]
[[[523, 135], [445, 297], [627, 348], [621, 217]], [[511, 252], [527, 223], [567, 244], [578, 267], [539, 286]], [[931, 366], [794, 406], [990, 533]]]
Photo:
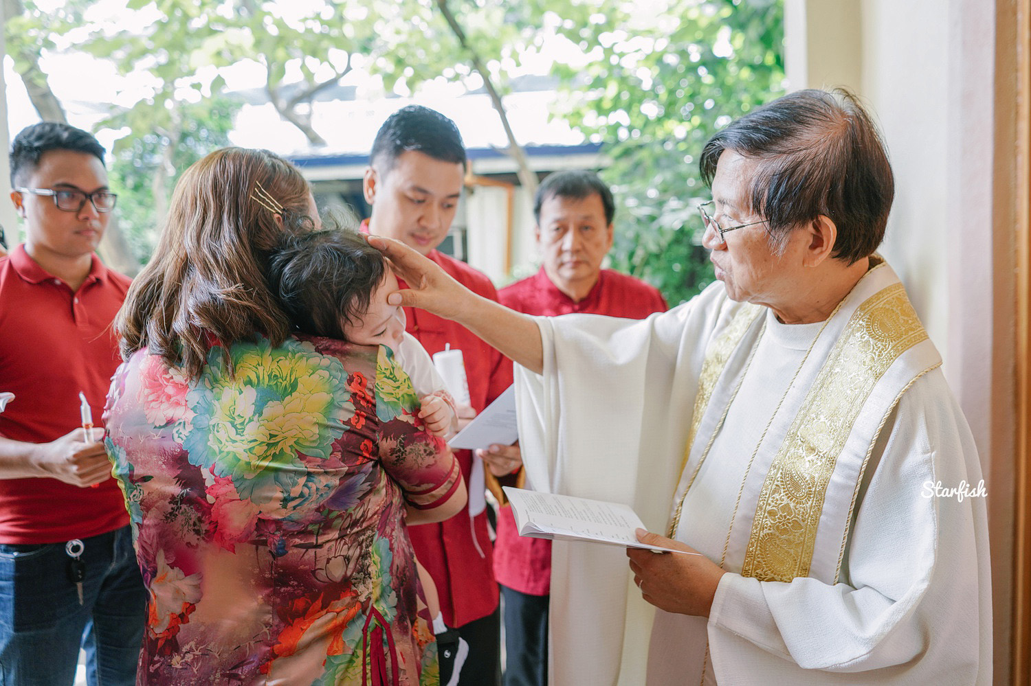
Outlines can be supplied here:
[[[486, 275], [436, 249], [455, 218], [465, 171], [465, 146], [454, 122], [418, 105], [398, 110], [372, 143], [363, 184], [372, 211], [365, 226], [370, 234], [404, 242], [471, 290], [497, 300]], [[446, 345], [462, 351], [472, 407], [458, 408], [460, 418], [475, 416], [511, 385], [510, 363], [464, 327], [408, 307], [405, 316], [408, 333], [430, 354]], [[472, 453], [455, 454], [468, 483]], [[419, 560], [436, 583], [444, 622], [469, 644], [459, 683], [500, 684], [501, 622], [486, 513], [470, 517], [466, 506], [444, 522], [409, 531]]]

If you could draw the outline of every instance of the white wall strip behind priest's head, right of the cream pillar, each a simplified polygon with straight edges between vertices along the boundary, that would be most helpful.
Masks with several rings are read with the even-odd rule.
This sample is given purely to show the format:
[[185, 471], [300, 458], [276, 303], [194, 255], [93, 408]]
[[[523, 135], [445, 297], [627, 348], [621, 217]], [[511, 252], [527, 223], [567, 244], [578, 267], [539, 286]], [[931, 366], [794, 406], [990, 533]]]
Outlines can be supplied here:
[[[883, 127], [897, 178], [883, 251], [951, 376], [945, 236], [949, 203], [949, 12], [941, 0], [863, 3], [861, 92]], [[936, 5], [936, 6], [935, 6]], [[919, 26], [920, 31], [912, 27]]]

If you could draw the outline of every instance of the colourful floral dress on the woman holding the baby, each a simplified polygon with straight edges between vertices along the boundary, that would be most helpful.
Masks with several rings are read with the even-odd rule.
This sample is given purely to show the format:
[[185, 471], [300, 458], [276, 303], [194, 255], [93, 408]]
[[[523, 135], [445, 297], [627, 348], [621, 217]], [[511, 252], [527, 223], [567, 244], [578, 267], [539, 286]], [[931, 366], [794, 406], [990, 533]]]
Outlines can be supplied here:
[[213, 346], [190, 381], [141, 350], [105, 426], [149, 591], [141, 684], [438, 682], [404, 524], [458, 487], [387, 352]]

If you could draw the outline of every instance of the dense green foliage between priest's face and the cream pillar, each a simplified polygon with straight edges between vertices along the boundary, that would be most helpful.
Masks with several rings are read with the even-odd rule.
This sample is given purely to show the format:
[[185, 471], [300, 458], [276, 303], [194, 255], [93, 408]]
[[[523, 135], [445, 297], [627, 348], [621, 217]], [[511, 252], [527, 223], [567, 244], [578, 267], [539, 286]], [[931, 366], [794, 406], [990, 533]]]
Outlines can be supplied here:
[[612, 159], [602, 172], [619, 207], [612, 266], [670, 304], [688, 300], [712, 280], [695, 208], [709, 199], [698, 156], [720, 128], [783, 93], [781, 3], [572, 0], [569, 9], [558, 31], [590, 59], [563, 68], [563, 114]]

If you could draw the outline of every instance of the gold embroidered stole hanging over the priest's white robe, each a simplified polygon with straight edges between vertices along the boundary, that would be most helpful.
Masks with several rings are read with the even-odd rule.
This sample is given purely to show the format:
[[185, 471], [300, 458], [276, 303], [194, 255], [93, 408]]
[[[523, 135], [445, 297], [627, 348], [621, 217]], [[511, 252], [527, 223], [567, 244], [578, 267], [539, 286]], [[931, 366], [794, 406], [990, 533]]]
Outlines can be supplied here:
[[[887, 265], [882, 266], [887, 268]], [[882, 274], [886, 273], [890, 273], [890, 270], [886, 269]], [[891, 276], [894, 277], [893, 274]], [[736, 393], [735, 388], [726, 408], [709, 408], [713, 388], [718, 380], [725, 390], [730, 390], [735, 381], [740, 384], [740, 378], [722, 376], [728, 371], [728, 361], [735, 349], [752, 341], [752, 337], [745, 340], [745, 333], [759, 316], [756, 310], [762, 309], [742, 308], [706, 351], [695, 399], [685, 468], [688, 466], [688, 455], [699, 438], [698, 431], [703, 415], [707, 411], [711, 413], [722, 410], [722, 416], [712, 427], [712, 436], [707, 439], [686, 483], [686, 475], [681, 476], [675, 501], [678, 505], [670, 526], [671, 538], [676, 533], [684, 499], [707, 456], [716, 434], [722, 427], [723, 417], [733, 402], [733, 393]], [[855, 309], [817, 374], [816, 381], [801, 403], [766, 473], [744, 554], [742, 576], [761, 581], [790, 581], [809, 575], [828, 485], [839, 458], [846, 452], [846, 442], [857, 424], [857, 418], [866, 400], [893, 364], [927, 338], [905, 290], [894, 278], [890, 285], [866, 298]], [[897, 380], [894, 377], [891, 379], [897, 386], [897, 392], [893, 395], [894, 402], [890, 407], [877, 408], [878, 412], [883, 411], [879, 421], [874, 422], [872, 430], [861, 437], [862, 454], [856, 460], [861, 464], [853, 465], [845, 471], [846, 478], [850, 479], [846, 485], [852, 488], [851, 508], [855, 507], [863, 471], [888, 414], [905, 388], [938, 365], [940, 359], [927, 364], [922, 362], [911, 369], [903, 369]], [[743, 377], [746, 367], [745, 364], [737, 371], [738, 377]], [[707, 418], [707, 422], [711, 425], [711, 416]], [[855, 451], [856, 447], [853, 445], [849, 452], [854, 454]], [[839, 474], [838, 478], [841, 476]], [[847, 514], [843, 521], [833, 524], [835, 527], [844, 527], [841, 552], [852, 522], [852, 512]], [[840, 562], [839, 553], [838, 568]]]

